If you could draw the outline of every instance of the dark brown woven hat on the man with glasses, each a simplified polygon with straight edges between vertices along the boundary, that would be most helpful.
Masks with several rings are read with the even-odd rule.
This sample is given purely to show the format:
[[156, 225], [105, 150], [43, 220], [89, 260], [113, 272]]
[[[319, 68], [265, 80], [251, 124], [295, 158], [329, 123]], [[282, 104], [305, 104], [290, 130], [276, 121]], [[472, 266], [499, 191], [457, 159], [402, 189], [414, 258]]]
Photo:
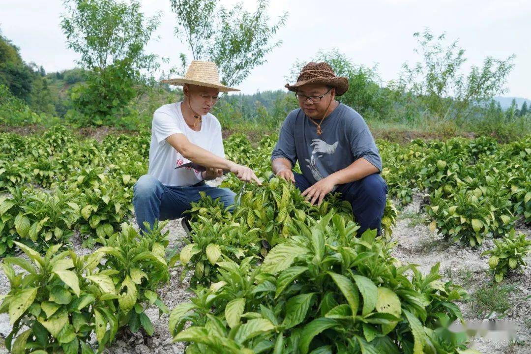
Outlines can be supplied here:
[[325, 62], [310, 62], [301, 70], [297, 77], [297, 82], [293, 85], [286, 84], [285, 88], [289, 91], [297, 90], [305, 84], [318, 83], [336, 88], [336, 96], [341, 96], [348, 90], [348, 79], [346, 77], [336, 76], [332, 67]]

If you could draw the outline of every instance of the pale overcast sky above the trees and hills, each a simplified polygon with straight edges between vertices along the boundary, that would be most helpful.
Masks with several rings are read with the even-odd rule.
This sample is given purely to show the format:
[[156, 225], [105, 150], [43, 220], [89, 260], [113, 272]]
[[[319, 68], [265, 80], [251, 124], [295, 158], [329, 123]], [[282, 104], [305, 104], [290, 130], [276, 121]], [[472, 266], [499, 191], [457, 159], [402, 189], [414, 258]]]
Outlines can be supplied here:
[[[222, 1], [234, 4], [234, 0]], [[245, 0], [253, 10], [254, 0]], [[173, 34], [174, 14], [168, 0], [144, 0], [146, 14], [162, 11], [156, 32], [160, 38], [148, 45], [150, 53], [169, 57], [178, 64], [178, 54], [186, 47]], [[76, 54], [66, 48], [59, 28], [63, 12], [61, 0], [2, 0], [0, 30], [20, 47], [26, 62], [44, 66], [47, 72], [71, 68]], [[449, 40], [459, 39], [466, 49], [469, 65], [481, 65], [485, 56], [507, 58], [516, 54], [504, 96], [531, 98], [531, 2], [526, 0], [271, 0], [270, 15], [288, 12], [285, 27], [276, 39], [282, 45], [255, 68], [239, 85], [244, 93], [284, 87], [285, 76], [298, 58], [310, 59], [316, 51], [338, 48], [353, 63], [378, 64], [384, 81], [395, 79], [404, 62], [415, 63], [413, 33], [429, 27], [434, 34], [447, 32]]]

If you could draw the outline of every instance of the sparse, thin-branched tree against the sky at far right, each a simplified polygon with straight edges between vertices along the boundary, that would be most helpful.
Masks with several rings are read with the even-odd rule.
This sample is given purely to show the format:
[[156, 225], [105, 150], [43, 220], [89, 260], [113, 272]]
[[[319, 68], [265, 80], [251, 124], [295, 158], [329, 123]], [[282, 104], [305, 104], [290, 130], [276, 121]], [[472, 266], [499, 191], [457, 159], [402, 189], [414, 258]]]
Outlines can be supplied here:
[[432, 114], [463, 119], [496, 94], [506, 92], [503, 86], [514, 66], [513, 55], [503, 60], [486, 57], [482, 67], [473, 65], [464, 75], [465, 49], [457, 40], [445, 45], [446, 34], [435, 37], [429, 29], [414, 36], [419, 45], [415, 53], [423, 62], [404, 64], [396, 88], [417, 96]]

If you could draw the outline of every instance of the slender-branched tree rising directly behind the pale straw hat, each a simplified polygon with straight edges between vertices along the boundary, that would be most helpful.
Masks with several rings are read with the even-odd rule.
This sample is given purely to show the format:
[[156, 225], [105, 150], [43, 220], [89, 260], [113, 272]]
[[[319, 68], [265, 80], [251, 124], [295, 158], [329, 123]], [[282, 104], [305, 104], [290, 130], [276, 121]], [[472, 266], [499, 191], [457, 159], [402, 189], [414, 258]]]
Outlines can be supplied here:
[[[177, 15], [175, 34], [189, 46], [193, 59], [218, 65], [225, 85], [241, 83], [254, 67], [265, 62], [266, 54], [281, 44], [271, 40], [285, 24], [287, 14], [269, 24], [267, 0], [258, 0], [253, 13], [244, 10], [241, 3], [232, 8], [218, 5], [216, 0], [170, 0], [170, 3]], [[187, 66], [184, 54], [181, 64], [183, 74]]]

